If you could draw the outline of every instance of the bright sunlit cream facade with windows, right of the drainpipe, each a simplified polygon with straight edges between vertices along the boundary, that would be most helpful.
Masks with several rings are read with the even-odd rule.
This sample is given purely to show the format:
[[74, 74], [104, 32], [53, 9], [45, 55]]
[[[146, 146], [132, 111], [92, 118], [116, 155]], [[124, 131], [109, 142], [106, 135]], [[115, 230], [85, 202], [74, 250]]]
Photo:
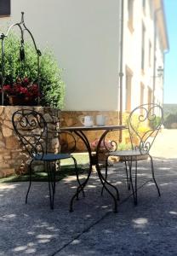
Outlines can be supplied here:
[[[140, 103], [157, 102], [163, 105], [163, 77], [158, 76], [158, 67], [164, 67], [163, 54], [168, 49], [163, 1], [146, 1], [143, 9], [142, 1], [132, 0], [133, 22], [128, 26], [128, 1], [124, 1], [123, 25], [123, 111], [131, 110]], [[156, 17], [156, 18], [155, 18]], [[155, 20], [156, 19], [156, 20]], [[156, 28], [155, 28], [156, 24]], [[141, 69], [142, 26], [145, 27], [145, 61]], [[151, 44], [151, 54], [150, 45]], [[154, 55], [156, 62], [154, 62]], [[130, 109], [127, 109], [126, 69], [132, 73]], [[155, 69], [155, 73], [154, 73]], [[144, 85], [143, 100], [140, 87]], [[151, 91], [151, 97], [148, 96]], [[154, 95], [154, 96], [153, 96]]]

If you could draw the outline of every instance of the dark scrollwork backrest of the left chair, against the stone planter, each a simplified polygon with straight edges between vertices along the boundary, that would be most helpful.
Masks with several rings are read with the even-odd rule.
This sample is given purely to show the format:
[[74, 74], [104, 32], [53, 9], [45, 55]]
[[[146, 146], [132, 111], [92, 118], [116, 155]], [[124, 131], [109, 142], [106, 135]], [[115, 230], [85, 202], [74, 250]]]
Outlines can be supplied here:
[[14, 131], [34, 160], [43, 160], [48, 148], [48, 126], [41, 113], [20, 109], [13, 113]]

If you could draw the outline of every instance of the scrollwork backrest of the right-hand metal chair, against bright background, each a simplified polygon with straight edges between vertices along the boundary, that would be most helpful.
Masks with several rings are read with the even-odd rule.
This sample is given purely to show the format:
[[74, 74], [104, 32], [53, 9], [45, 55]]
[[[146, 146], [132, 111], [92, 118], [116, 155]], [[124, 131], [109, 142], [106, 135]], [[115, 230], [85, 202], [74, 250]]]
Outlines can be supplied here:
[[160, 105], [151, 103], [134, 108], [128, 117], [132, 149], [140, 148], [141, 154], [148, 154], [161, 125], [163, 108]]

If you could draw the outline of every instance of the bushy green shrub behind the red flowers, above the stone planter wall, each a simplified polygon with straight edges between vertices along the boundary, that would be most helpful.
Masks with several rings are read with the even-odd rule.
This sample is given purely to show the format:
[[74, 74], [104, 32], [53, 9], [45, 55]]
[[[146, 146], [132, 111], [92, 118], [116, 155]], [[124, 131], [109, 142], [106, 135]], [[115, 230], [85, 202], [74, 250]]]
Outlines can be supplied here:
[[[20, 37], [10, 33], [4, 39], [4, 84], [13, 84], [18, 78], [37, 81], [37, 53], [30, 40], [25, 41], [25, 61], [20, 61]], [[1, 45], [0, 45], [1, 50]], [[2, 56], [0, 55], [0, 65]], [[0, 73], [0, 76], [2, 74]], [[42, 51], [40, 57], [41, 104], [62, 108], [65, 84], [61, 79], [61, 69], [49, 49]]]

